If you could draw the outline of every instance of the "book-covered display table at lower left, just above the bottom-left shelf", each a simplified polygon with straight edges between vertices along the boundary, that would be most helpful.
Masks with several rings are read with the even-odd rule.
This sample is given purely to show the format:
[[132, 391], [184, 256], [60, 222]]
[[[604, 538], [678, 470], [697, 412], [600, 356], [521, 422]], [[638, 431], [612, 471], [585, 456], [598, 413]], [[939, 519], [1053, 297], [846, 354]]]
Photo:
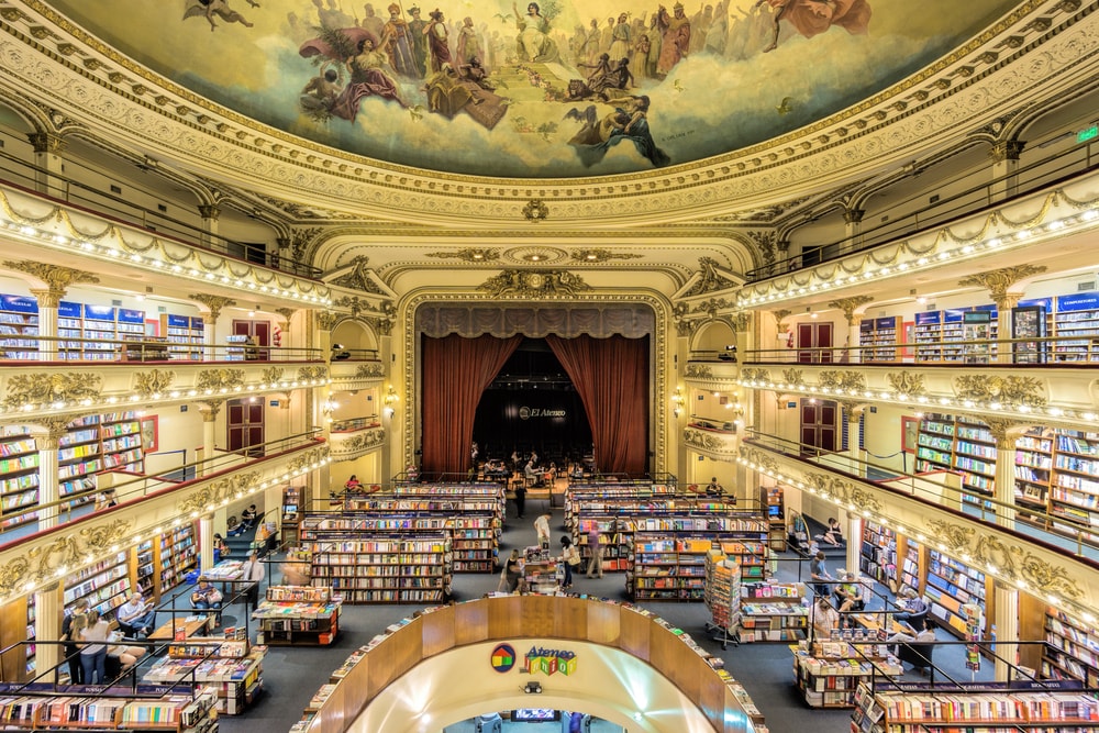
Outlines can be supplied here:
[[225, 630], [222, 638], [178, 640], [143, 680], [191, 685], [214, 696], [218, 712], [238, 715], [263, 690], [263, 660], [267, 647], [251, 645], [244, 630]]

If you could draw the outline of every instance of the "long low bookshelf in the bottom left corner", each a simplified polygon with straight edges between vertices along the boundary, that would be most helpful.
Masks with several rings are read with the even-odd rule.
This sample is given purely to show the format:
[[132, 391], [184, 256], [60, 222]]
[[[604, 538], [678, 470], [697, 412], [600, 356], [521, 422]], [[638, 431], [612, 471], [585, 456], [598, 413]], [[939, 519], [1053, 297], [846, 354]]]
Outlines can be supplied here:
[[211, 692], [89, 697], [7, 693], [0, 689], [0, 729], [214, 733], [218, 730], [214, 702]]

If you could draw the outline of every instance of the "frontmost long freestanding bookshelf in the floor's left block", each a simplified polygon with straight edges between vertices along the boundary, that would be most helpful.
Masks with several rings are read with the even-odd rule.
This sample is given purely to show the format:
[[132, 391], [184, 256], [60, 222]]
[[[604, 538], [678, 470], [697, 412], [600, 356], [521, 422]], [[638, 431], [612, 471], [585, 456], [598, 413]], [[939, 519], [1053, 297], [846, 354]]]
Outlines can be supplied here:
[[345, 531], [314, 537], [303, 525], [301, 534], [311, 585], [331, 587], [345, 603], [441, 603], [448, 596], [445, 532]]

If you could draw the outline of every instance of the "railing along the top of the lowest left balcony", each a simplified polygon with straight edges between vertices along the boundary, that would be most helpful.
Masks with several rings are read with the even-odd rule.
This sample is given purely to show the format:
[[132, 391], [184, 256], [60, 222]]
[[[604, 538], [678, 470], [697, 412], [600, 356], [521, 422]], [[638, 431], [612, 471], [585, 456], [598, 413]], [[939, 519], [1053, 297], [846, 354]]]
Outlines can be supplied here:
[[[99, 477], [109, 477], [102, 479], [109, 487], [98, 486], [67, 493], [56, 501], [36, 502], [0, 514], [0, 549], [14, 542], [23, 542], [40, 531], [92, 517], [97, 498], [108, 488], [113, 491], [119, 504], [125, 504], [162, 491], [187, 487], [220, 471], [262, 464], [291, 451], [315, 446], [320, 435], [320, 430], [312, 430], [242, 451], [219, 451], [202, 460], [187, 463], [186, 459], [180, 459], [179, 465], [154, 475], [137, 476], [122, 471], [98, 474]], [[185, 455], [182, 452], [180, 454]]]

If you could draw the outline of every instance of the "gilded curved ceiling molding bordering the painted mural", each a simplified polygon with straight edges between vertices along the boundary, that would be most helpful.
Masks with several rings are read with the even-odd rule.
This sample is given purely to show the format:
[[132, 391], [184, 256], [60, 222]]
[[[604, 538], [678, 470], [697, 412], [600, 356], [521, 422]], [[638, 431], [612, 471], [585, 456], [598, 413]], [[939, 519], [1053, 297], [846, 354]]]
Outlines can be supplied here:
[[[125, 129], [132, 124], [130, 118], [141, 115], [144, 127], [133, 134], [157, 140], [181, 157], [231, 160], [233, 169], [229, 170], [226, 164], [226, 170], [236, 177], [313, 191], [319, 198], [377, 200], [390, 211], [417, 214], [432, 211], [437, 215], [440, 201], [462, 199], [463, 214], [479, 220], [492, 214], [493, 209], [499, 215], [502, 200], [520, 197], [510, 181], [485, 185], [457, 175], [409, 175], [407, 168], [364, 163], [259, 125], [152, 74], [75, 26], [42, 0], [11, 1], [33, 9], [32, 13], [9, 13], [12, 40], [8, 48], [0, 49], [0, 65], [7, 66], [19, 84], [44, 87], [60, 98], [70, 98], [74, 111], [98, 116], [108, 126]], [[1074, 9], [1073, 4], [1079, 3], [1026, 2], [984, 34], [882, 92], [795, 133], [710, 158], [704, 165], [630, 177], [586, 178], [582, 187], [571, 180], [537, 181], [534, 191], [526, 190], [530, 186], [520, 190], [526, 197], [562, 193], [565, 199], [576, 199], [555, 198], [555, 216], [556, 208], [560, 208], [570, 209], [560, 215], [606, 219], [618, 215], [614, 212], [619, 207], [607, 206], [611, 193], [631, 197], [630, 215], [636, 218], [643, 212], [658, 215], [685, 206], [712, 206], [737, 197], [743, 200], [751, 192], [774, 196], [775, 190], [792, 181], [812, 180], [814, 174], [817, 180], [826, 182], [828, 174], [850, 164], [881, 162], [958, 125], [980, 124], [981, 115], [992, 118], [1001, 107], [1032, 90], [1040, 79], [1072, 69], [1096, 45], [1087, 29], [1078, 27], [1078, 21], [1087, 15], [1086, 9]], [[1023, 22], [1039, 13], [1035, 20], [1042, 22]], [[57, 31], [45, 29], [43, 23]], [[24, 33], [42, 36], [37, 47], [14, 40]], [[1013, 35], [1008, 37], [1009, 33]], [[59, 66], [74, 54], [81, 55], [84, 64], [67, 62]], [[1026, 54], [1035, 54], [1035, 58], [1041, 54], [1043, 63], [1026, 64]], [[92, 58], [96, 64], [88, 63]], [[104, 89], [112, 93], [103, 95]], [[837, 149], [841, 146], [843, 149]], [[621, 185], [621, 180], [629, 182]], [[437, 192], [429, 193], [428, 182], [434, 184]], [[532, 212], [540, 211], [532, 206], [535, 202], [541, 199], [529, 200]]]

